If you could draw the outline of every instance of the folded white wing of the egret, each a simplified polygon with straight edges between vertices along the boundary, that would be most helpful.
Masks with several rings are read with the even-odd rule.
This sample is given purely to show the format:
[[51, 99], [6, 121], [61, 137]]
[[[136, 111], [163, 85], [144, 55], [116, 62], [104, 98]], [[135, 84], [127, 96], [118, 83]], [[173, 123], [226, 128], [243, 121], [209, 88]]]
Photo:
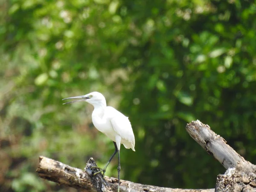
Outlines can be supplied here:
[[135, 146], [134, 133], [131, 128], [131, 122], [128, 117], [117, 111], [115, 108], [107, 107], [108, 114], [111, 114], [111, 123], [113, 125], [114, 131], [116, 131], [119, 136], [127, 140], [133, 146]]

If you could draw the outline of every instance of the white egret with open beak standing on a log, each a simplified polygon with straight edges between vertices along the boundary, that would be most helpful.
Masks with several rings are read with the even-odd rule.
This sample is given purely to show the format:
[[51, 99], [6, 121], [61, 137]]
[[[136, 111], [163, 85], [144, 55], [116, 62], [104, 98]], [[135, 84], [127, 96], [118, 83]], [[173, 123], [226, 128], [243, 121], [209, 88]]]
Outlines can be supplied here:
[[[94, 110], [92, 113], [92, 120], [93, 125], [98, 129], [100, 132], [105, 134], [109, 137], [114, 145], [115, 145], [115, 152], [108, 160], [108, 163], [105, 165], [103, 169], [98, 168], [99, 171], [94, 173], [94, 175], [103, 172], [103, 176], [105, 175], [106, 169], [118, 152], [118, 192], [119, 192], [119, 184], [120, 184], [120, 145], [123, 144], [125, 148], [131, 148], [135, 151], [135, 138], [134, 133], [131, 128], [131, 123], [127, 116], [123, 115], [121, 112], [117, 111], [115, 108], [108, 106], [106, 104], [105, 97], [99, 92], [92, 92], [83, 96], [75, 96], [75, 97], [68, 97], [65, 99], [79, 99], [68, 103], [73, 102], [80, 102], [85, 101], [93, 105]], [[62, 99], [62, 100], [65, 100]], [[63, 104], [63, 105], [64, 105]]]

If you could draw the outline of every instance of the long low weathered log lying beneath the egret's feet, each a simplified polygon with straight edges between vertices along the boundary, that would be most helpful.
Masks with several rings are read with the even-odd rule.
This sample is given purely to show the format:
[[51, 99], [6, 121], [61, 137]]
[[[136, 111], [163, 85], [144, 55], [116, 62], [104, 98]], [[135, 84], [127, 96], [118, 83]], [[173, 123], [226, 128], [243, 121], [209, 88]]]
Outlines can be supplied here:
[[[90, 163], [90, 160], [89, 160]], [[92, 165], [92, 164], [91, 164]], [[88, 166], [88, 165], [87, 165]], [[89, 165], [90, 167], [90, 165]], [[93, 184], [90, 181], [90, 175], [92, 172], [87, 172], [81, 169], [74, 168], [64, 163], [49, 159], [47, 157], [39, 157], [39, 165], [36, 170], [38, 175], [43, 179], [53, 181], [55, 183], [74, 187], [76, 189], [84, 189], [87, 192], [96, 192], [93, 188]], [[88, 174], [89, 172], [89, 174]], [[118, 180], [114, 177], [105, 176], [111, 189], [117, 191]], [[106, 190], [109, 190], [106, 188]], [[131, 181], [120, 180], [120, 192], [214, 192], [214, 189], [170, 189], [165, 187], [143, 185], [139, 183], [133, 183]]]

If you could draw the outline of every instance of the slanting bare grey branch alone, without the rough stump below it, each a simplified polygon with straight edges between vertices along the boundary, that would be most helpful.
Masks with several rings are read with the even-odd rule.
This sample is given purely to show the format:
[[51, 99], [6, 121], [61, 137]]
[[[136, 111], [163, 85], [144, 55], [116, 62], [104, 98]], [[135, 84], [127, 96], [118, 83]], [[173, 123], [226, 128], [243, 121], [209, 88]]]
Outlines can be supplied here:
[[245, 162], [244, 158], [227, 145], [221, 136], [215, 134], [209, 125], [204, 125], [199, 120], [192, 121], [186, 125], [186, 131], [226, 169], [236, 167], [239, 162]]

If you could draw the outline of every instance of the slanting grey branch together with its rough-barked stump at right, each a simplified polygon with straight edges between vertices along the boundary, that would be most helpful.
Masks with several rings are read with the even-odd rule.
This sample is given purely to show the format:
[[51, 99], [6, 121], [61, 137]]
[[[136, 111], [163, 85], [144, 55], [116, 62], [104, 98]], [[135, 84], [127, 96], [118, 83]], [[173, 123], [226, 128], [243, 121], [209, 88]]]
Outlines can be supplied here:
[[199, 120], [187, 124], [189, 135], [227, 170], [218, 175], [215, 192], [256, 192], [256, 166], [244, 160], [227, 142]]

